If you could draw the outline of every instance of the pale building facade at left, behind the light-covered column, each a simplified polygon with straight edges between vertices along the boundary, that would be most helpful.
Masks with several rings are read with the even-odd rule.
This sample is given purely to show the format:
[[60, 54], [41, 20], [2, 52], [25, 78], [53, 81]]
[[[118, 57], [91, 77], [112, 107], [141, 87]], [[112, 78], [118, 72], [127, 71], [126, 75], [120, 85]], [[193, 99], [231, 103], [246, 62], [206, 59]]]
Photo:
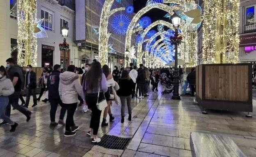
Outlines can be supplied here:
[[[7, 0], [6, 0], [7, 1]], [[61, 27], [66, 23], [69, 27], [69, 35], [66, 42], [70, 45], [70, 51], [66, 53], [66, 64], [73, 64], [73, 53], [75, 53], [74, 30], [75, 30], [75, 11], [72, 0], [37, 0], [37, 18], [44, 19], [41, 26], [46, 30], [48, 38], [37, 38], [37, 66], [44, 67], [54, 64], [64, 63], [64, 53], [59, 51], [59, 44], [63, 42]], [[67, 6], [65, 4], [68, 4]], [[5, 32], [5, 42], [0, 42], [5, 46], [1, 46], [2, 53], [1, 64], [8, 57], [17, 58], [17, 36], [18, 24], [16, 18], [17, 0], [8, 0], [0, 5], [0, 9], [5, 9], [5, 18], [1, 16], [1, 20], [5, 20], [1, 33]]]

